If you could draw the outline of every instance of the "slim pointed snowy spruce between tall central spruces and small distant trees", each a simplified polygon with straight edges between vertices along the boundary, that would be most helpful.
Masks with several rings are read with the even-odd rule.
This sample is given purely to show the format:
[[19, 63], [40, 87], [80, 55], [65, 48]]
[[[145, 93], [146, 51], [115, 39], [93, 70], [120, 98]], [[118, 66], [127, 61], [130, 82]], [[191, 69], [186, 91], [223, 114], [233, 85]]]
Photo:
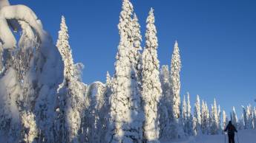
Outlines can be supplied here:
[[172, 111], [174, 118], [180, 118], [180, 49], [177, 41], [174, 44], [174, 52], [171, 57], [171, 89], [172, 89]]

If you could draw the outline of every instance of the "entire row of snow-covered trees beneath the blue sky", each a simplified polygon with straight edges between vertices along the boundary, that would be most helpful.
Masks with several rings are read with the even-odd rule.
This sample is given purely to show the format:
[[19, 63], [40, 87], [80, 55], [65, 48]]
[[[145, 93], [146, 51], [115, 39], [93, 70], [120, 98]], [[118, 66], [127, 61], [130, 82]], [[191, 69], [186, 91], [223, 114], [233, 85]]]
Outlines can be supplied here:
[[[29, 7], [0, 1], [0, 142], [160, 142], [223, 133], [229, 119], [216, 100], [180, 100], [180, 49], [171, 69], [160, 68], [154, 10], [146, 20], [145, 47], [137, 15], [122, 1], [115, 73], [105, 84], [82, 83], [62, 16], [56, 46]], [[15, 33], [21, 32], [18, 44]], [[18, 47], [18, 48], [16, 48]], [[256, 125], [256, 108], [243, 107], [239, 129]]]

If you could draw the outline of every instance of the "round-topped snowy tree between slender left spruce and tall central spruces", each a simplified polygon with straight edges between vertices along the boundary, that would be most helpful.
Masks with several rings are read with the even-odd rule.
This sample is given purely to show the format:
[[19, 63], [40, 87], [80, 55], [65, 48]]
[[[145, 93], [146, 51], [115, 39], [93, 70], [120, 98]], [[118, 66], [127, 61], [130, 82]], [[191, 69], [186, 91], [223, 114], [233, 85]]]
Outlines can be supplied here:
[[105, 142], [108, 116], [108, 98], [105, 97], [106, 87], [100, 82], [94, 82], [86, 90], [86, 105], [83, 132], [80, 142]]

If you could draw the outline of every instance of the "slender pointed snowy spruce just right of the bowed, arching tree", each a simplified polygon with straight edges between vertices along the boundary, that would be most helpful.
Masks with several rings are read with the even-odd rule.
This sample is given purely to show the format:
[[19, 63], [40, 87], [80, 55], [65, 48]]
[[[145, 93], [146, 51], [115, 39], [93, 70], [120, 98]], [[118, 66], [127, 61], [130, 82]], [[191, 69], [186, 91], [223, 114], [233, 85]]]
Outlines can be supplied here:
[[83, 109], [85, 87], [74, 74], [75, 66], [68, 38], [68, 27], [65, 24], [65, 17], [62, 16], [56, 46], [64, 61], [64, 80], [59, 88], [56, 106], [56, 142], [78, 142]]

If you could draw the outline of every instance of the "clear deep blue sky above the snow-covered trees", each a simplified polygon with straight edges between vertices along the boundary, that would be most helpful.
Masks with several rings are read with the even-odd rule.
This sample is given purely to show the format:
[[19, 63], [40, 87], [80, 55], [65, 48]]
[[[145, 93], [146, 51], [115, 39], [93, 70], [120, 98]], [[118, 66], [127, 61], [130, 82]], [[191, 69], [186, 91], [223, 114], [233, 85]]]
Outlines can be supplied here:
[[[31, 7], [53, 41], [61, 15], [65, 15], [73, 58], [85, 64], [85, 83], [105, 82], [106, 71], [114, 74], [121, 0], [10, 2]], [[154, 7], [161, 65], [170, 65], [174, 41], [178, 40], [183, 63], [182, 95], [189, 91], [193, 104], [196, 94], [209, 104], [216, 97], [226, 111], [231, 111], [232, 105], [237, 111], [240, 105], [255, 105], [255, 0], [132, 0], [132, 3], [142, 35], [148, 10]]]

